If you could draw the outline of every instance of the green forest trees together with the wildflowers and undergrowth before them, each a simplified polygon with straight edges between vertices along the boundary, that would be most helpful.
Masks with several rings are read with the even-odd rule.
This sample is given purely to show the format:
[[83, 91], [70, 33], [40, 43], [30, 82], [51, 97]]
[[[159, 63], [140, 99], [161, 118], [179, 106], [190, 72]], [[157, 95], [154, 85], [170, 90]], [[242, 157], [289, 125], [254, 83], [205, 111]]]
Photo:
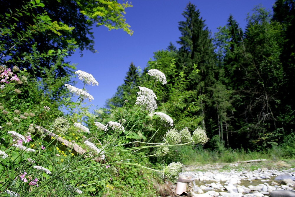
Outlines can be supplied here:
[[0, 196], [153, 196], [153, 182], [175, 182], [200, 154], [294, 158], [294, 0], [256, 6], [244, 31], [230, 15], [213, 36], [188, 3], [180, 47], [167, 43], [142, 69], [130, 62], [114, 96], [90, 112], [87, 85], [98, 82], [67, 57], [95, 52], [93, 25], [132, 35], [128, 7], [1, 1]]

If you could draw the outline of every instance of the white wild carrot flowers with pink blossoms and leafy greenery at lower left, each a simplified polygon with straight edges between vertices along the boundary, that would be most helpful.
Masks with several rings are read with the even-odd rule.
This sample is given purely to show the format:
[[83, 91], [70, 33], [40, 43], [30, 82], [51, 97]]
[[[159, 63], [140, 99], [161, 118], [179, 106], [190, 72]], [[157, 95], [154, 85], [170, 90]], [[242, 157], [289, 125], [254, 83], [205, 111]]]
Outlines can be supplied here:
[[[19, 71], [17, 68], [13, 70]], [[15, 85], [21, 81], [21, 76], [14, 74], [13, 70], [1, 66], [1, 98], [15, 92]], [[188, 128], [178, 131], [173, 128], [173, 119], [169, 115], [154, 112], [157, 96], [146, 87], [138, 87], [133, 114], [124, 114], [123, 110], [120, 116], [113, 117], [113, 121], [94, 121], [91, 125], [73, 118], [77, 117], [75, 114], [80, 112], [84, 100], [91, 102], [94, 99], [86, 92], [87, 85], [98, 85], [89, 73], [78, 70], [75, 74], [84, 88], [64, 85], [70, 97], [76, 95], [77, 100], [64, 105], [53, 120], [47, 118], [51, 112], [49, 106], [43, 106], [42, 112], [37, 114], [29, 109], [11, 111], [6, 105], [9, 102], [1, 103], [1, 196], [83, 195], [90, 185], [112, 179], [114, 175], [120, 176], [118, 169], [124, 166], [148, 169], [157, 172], [163, 180], [175, 183], [182, 172], [182, 163], [172, 162], [162, 169], [154, 169], [139, 164], [139, 161], [147, 157], [161, 158], [173, 146], [208, 141], [201, 128], [196, 128], [192, 135]], [[157, 82], [167, 83], [165, 74], [159, 70], [150, 70], [148, 74], [153, 77], [154, 86]], [[127, 100], [124, 102], [124, 105], [129, 104]], [[64, 109], [71, 110], [62, 113]], [[126, 140], [146, 112], [159, 116], [163, 124], [168, 123], [167, 126], [158, 127], [148, 140]], [[34, 119], [39, 122], [32, 121]], [[165, 135], [159, 135], [158, 131], [163, 133], [163, 130]], [[162, 142], [154, 143], [155, 138]], [[120, 153], [124, 156], [114, 159]]]

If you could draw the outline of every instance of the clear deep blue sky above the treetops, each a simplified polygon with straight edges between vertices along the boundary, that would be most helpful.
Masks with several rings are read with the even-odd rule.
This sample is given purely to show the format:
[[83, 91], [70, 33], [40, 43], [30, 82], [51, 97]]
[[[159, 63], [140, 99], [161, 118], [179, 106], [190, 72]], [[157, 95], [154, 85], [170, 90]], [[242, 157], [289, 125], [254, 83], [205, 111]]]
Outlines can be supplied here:
[[[119, 1], [120, 2], [120, 1]], [[200, 10], [208, 29], [214, 35], [217, 27], [227, 24], [230, 14], [244, 30], [246, 17], [254, 6], [262, 4], [272, 10], [275, 0], [191, 0]], [[129, 1], [130, 3], [130, 1]], [[87, 86], [94, 97], [87, 105], [91, 109], [103, 107], [106, 99], [111, 98], [117, 87], [124, 83], [124, 77], [131, 62], [144, 68], [153, 59], [153, 53], [166, 49], [170, 42], [176, 45], [181, 36], [178, 22], [184, 20], [181, 15], [189, 1], [186, 0], [135, 0], [133, 7], [126, 9], [126, 22], [134, 31], [130, 36], [123, 30], [111, 30], [106, 27], [94, 27], [94, 48], [98, 53], [79, 51], [68, 58], [77, 64], [77, 70], [88, 72], [99, 82], [99, 86]], [[176, 45], [178, 47], [178, 45]], [[78, 79], [77, 79], [78, 80]], [[78, 82], [78, 88], [83, 86]]]

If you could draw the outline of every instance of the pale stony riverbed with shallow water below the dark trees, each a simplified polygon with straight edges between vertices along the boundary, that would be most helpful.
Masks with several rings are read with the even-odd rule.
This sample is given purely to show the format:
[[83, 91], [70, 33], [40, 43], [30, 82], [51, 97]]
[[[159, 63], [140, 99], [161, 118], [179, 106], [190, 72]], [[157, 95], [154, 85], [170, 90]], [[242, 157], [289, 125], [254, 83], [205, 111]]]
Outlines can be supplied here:
[[[179, 193], [180, 187], [185, 188], [186, 183], [182, 182], [188, 182], [183, 189], [185, 192], [175, 196], [272, 197], [273, 191], [295, 191], [295, 168], [291, 167], [295, 164], [293, 162], [254, 161], [226, 166], [185, 166], [180, 182], [172, 187], [173, 191], [178, 190]], [[290, 193], [295, 197], [295, 192]]]

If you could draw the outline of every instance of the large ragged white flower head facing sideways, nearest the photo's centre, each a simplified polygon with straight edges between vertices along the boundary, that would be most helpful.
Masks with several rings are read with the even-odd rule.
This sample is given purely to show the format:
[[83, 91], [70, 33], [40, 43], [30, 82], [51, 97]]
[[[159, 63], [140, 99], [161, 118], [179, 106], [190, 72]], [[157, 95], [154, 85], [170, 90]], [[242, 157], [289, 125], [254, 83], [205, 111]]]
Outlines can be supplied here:
[[141, 105], [142, 106], [142, 110], [148, 110], [149, 113], [151, 111], [155, 111], [155, 109], [158, 108], [156, 100], [157, 97], [155, 95], [155, 93], [153, 92], [153, 90], [148, 89], [146, 87], [140, 87], [138, 86], [138, 88], [140, 89], [140, 92], [137, 92], [138, 95], [140, 95], [139, 97], [137, 97], [136, 99], [136, 105]]

